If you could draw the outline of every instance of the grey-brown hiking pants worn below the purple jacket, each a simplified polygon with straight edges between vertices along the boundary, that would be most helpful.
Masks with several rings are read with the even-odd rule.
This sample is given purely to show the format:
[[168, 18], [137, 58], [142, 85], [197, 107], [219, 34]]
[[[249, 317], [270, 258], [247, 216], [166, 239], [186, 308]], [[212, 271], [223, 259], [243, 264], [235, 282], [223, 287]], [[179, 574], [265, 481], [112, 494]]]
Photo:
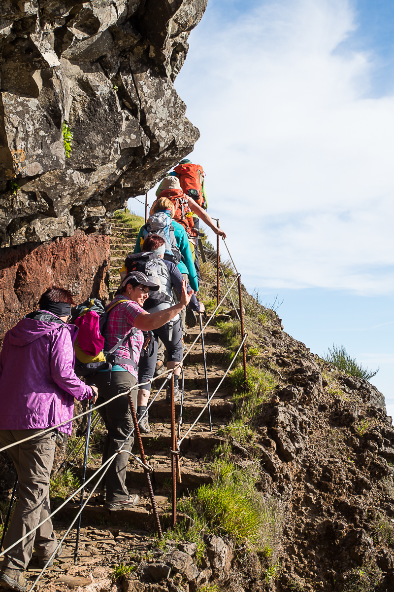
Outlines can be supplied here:
[[[57, 430], [42, 435], [44, 430], [0, 430], [0, 445], [6, 446], [34, 435], [8, 449], [18, 474], [19, 500], [4, 538], [4, 549], [24, 536], [50, 514], [49, 480], [55, 454]], [[51, 520], [5, 554], [3, 567], [12, 570], [27, 568], [33, 547], [41, 559], [49, 558], [57, 540]]]

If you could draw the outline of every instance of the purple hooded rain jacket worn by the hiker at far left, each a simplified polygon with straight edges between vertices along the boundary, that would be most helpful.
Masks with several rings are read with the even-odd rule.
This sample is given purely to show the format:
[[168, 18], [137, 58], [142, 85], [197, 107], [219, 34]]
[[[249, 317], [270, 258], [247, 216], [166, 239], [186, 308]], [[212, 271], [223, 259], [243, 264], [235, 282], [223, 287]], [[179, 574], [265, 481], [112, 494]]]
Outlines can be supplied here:
[[[73, 417], [74, 398], [92, 389], [74, 372], [78, 328], [22, 318], [6, 332], [0, 353], [0, 430], [45, 429]], [[71, 434], [72, 423], [59, 428]]]

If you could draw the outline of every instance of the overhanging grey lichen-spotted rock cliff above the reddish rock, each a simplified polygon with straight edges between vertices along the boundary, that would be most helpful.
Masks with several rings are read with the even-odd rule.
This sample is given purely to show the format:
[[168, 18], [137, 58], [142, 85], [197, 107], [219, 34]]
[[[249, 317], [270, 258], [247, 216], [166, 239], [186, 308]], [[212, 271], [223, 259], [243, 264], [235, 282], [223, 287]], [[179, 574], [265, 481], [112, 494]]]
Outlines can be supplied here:
[[173, 82], [206, 3], [2, 1], [2, 246], [105, 231], [190, 152], [199, 134]]

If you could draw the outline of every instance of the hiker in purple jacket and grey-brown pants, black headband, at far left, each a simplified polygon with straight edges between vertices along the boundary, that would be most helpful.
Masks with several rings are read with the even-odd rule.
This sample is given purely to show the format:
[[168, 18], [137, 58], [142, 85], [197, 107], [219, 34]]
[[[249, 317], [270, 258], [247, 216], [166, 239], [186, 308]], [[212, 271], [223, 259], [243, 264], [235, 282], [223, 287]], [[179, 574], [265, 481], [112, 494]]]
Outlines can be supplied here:
[[[75, 304], [70, 292], [55, 286], [4, 337], [0, 353], [0, 446], [34, 436], [8, 449], [18, 475], [19, 501], [4, 539], [4, 548], [24, 536], [50, 514], [49, 481], [57, 429], [71, 420], [74, 398], [96, 400], [96, 388], [74, 372], [73, 342], [78, 329], [66, 323]], [[71, 434], [71, 421], [59, 428]], [[0, 584], [24, 592], [23, 576], [35, 547], [44, 567], [57, 546], [51, 520], [5, 554]], [[61, 547], [56, 556], [61, 554]]]

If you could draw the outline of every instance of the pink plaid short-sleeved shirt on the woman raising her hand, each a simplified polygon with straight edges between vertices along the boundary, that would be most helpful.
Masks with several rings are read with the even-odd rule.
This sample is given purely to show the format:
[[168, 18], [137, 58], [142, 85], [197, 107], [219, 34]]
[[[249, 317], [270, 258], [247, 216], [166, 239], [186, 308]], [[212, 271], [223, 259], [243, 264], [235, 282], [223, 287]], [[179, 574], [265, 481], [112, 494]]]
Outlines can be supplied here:
[[[122, 295], [116, 296], [108, 305], [108, 308], [110, 308], [111, 304], [115, 303], [116, 300], [121, 300], [122, 298], [124, 298]], [[104, 330], [105, 349], [107, 352], [118, 343], [121, 337], [125, 336], [125, 334], [133, 328], [135, 319], [142, 310], [141, 306], [133, 300], [126, 300], [121, 304], [117, 304], [113, 310], [109, 311], [108, 321]], [[144, 334], [142, 331], [138, 330], [135, 335], [131, 337], [131, 349], [136, 363], [139, 362], [142, 345], [144, 345]], [[123, 343], [123, 345], [116, 349], [114, 353], [116, 356], [119, 356], [119, 358], [130, 358], [128, 341]], [[125, 368], [125, 370], [138, 379], [138, 370], [128, 364], [119, 364], [119, 366]]]

